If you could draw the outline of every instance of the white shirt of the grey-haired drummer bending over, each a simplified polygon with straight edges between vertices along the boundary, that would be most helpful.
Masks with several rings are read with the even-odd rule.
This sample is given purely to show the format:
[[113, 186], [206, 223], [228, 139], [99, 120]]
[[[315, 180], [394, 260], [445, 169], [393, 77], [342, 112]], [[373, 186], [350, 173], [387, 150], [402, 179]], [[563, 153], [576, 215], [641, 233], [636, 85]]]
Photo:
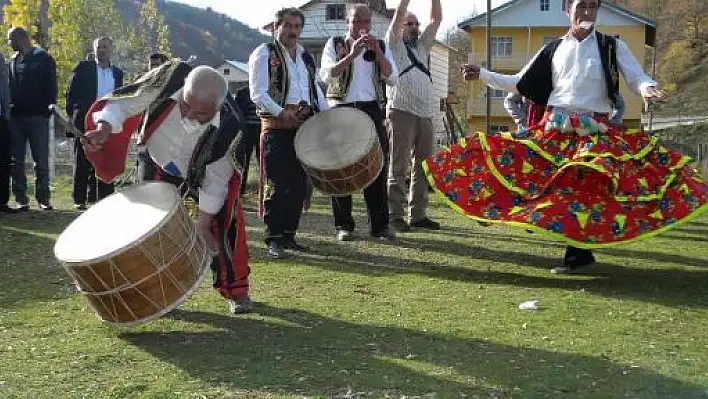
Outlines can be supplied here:
[[[147, 109], [157, 95], [157, 91], [153, 91], [137, 97], [111, 99], [102, 111], [93, 115], [93, 119], [96, 122], [108, 122], [111, 131], [119, 133], [123, 122]], [[180, 89], [172, 95], [172, 99], [178, 100], [181, 95]], [[197, 140], [209, 125], [218, 128], [219, 122], [220, 115], [217, 112], [208, 124], [187, 131], [182, 125], [179, 104], [175, 104], [146, 144], [150, 157], [163, 169], [170, 163], [174, 163], [181, 174], [180, 177], [185, 177]], [[228, 183], [233, 172], [234, 166], [228, 152], [216, 162], [206, 166], [204, 180], [199, 189], [199, 210], [212, 215], [219, 212], [226, 199]]]

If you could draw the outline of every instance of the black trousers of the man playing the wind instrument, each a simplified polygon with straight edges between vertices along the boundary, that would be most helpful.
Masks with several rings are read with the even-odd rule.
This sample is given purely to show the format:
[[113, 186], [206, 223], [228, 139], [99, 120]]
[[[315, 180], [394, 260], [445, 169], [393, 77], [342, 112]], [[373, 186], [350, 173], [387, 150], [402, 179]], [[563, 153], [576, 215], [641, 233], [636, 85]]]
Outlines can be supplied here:
[[[369, 216], [370, 232], [379, 233], [388, 228], [388, 193], [386, 190], [386, 180], [388, 178], [388, 134], [383, 121], [385, 115], [376, 101], [343, 104], [340, 107], [355, 107], [366, 112], [371, 117], [376, 126], [379, 136], [379, 144], [384, 153], [384, 165], [381, 173], [376, 177], [369, 187], [364, 189], [364, 201]], [[352, 196], [332, 197], [332, 213], [334, 214], [334, 226], [338, 230], [354, 231], [354, 217], [352, 217]]]

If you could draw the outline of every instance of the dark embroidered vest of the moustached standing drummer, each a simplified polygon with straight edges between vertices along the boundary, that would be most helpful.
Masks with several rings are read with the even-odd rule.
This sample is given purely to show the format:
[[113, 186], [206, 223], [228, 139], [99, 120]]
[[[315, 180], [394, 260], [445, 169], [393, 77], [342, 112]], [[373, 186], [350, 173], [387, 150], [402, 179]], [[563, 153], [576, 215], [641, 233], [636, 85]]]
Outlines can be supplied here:
[[[285, 63], [283, 48], [277, 43], [268, 43], [268, 95], [281, 107], [285, 107], [290, 90], [290, 73]], [[315, 83], [315, 60], [308, 52], [302, 53], [302, 61], [307, 67], [308, 80], [310, 83], [310, 104], [319, 112], [317, 97], [317, 86]], [[270, 113], [259, 107], [259, 116], [270, 116]]]

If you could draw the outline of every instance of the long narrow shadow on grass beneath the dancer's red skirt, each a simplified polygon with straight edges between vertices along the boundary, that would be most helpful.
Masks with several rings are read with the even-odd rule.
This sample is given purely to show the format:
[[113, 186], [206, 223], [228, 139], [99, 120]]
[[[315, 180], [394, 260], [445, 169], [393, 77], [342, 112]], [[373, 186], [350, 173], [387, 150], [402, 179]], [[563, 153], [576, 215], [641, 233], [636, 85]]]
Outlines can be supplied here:
[[[459, 245], [458, 245], [459, 246]], [[399, 259], [386, 255], [367, 254], [366, 261], [357, 261], [352, 256], [330, 252], [323, 258], [303, 257], [302, 264], [322, 269], [359, 274], [419, 274], [452, 281], [467, 281], [475, 284], [509, 285], [525, 288], [551, 288], [577, 291], [584, 289], [594, 295], [609, 298], [626, 298], [667, 306], [688, 308], [708, 307], [708, 271], [681, 269], [625, 268], [609, 263], [598, 263], [585, 275], [589, 279], [535, 276], [498, 270], [492, 260], [526, 266], [550, 264], [551, 258], [517, 252], [485, 249], [471, 251], [477, 259], [490, 259], [486, 269], [437, 265], [414, 259]], [[320, 253], [322, 254], [322, 253]]]

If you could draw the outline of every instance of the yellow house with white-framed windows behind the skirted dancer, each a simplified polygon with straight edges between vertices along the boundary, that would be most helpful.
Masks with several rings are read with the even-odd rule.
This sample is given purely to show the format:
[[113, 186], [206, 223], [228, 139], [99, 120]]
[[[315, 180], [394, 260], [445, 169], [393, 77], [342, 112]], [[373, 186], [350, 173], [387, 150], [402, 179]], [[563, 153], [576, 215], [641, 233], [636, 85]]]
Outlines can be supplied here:
[[[505, 74], [517, 73], [541, 47], [565, 35], [568, 16], [565, 0], [511, 0], [492, 10], [491, 70]], [[597, 29], [605, 34], [619, 35], [649, 76], [652, 76], [652, 58], [656, 37], [656, 23], [626, 8], [602, 2]], [[477, 15], [458, 26], [470, 36], [469, 62], [487, 67], [486, 13]], [[620, 91], [626, 101], [624, 123], [638, 127], [642, 100], [627, 89], [623, 79]], [[470, 131], [486, 129], [486, 88], [479, 81], [469, 84], [467, 123]], [[490, 131], [515, 130], [514, 122], [504, 109], [506, 93], [491, 90]]]

